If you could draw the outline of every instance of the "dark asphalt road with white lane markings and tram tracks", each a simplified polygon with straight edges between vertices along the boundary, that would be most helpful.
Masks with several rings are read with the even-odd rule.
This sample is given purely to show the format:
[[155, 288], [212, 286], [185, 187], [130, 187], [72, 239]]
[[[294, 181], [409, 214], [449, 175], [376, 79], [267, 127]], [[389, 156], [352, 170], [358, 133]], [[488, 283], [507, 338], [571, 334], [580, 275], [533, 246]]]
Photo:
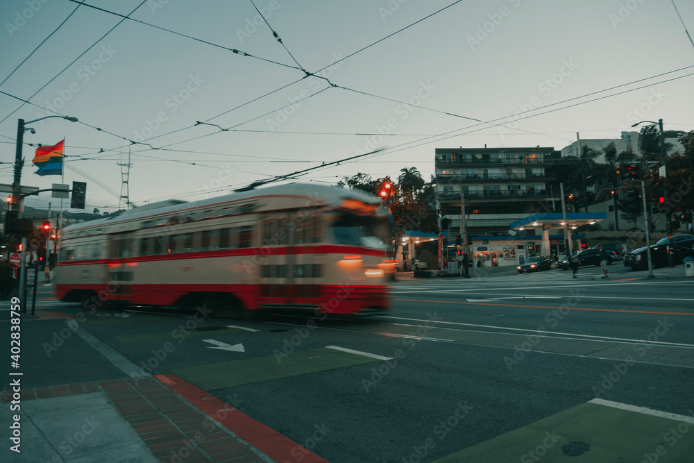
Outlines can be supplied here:
[[[83, 327], [332, 463], [691, 461], [694, 284], [610, 273], [398, 281], [364, 319], [101, 310]], [[48, 291], [39, 309], [76, 313]], [[46, 363], [28, 387], [55, 380]]]

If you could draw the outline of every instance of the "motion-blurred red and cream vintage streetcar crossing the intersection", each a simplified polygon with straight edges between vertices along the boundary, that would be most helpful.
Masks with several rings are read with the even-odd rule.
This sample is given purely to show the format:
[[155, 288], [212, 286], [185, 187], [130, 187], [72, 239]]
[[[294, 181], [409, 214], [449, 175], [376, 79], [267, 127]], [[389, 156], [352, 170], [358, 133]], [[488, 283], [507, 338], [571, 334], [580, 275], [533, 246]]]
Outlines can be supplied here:
[[162, 201], [63, 229], [53, 286], [87, 310], [384, 312], [387, 220], [375, 196], [299, 183]]

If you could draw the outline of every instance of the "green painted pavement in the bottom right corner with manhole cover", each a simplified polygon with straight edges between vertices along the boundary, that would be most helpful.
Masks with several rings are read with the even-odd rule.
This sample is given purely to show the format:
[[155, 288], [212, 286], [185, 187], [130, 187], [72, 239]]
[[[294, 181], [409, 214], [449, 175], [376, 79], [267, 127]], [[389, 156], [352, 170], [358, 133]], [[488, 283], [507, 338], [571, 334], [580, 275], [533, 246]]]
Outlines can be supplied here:
[[[589, 450], [567, 455], [566, 450]], [[580, 452], [580, 450], [578, 450]], [[694, 461], [694, 417], [677, 421], [584, 403], [434, 463], [655, 463]]]

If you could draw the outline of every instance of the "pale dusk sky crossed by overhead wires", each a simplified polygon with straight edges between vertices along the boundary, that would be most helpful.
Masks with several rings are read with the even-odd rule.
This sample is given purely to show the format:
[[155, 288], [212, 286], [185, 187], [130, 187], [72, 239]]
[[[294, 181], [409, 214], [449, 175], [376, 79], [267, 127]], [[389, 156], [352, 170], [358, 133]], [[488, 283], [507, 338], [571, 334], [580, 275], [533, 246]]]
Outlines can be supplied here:
[[77, 117], [30, 125], [22, 185], [63, 181], [31, 159], [65, 138], [89, 211], [117, 210], [128, 155], [144, 205], [375, 150], [291, 181], [429, 180], [437, 148], [694, 130], [692, 1], [6, 0], [0, 19], [0, 183], [17, 119]]

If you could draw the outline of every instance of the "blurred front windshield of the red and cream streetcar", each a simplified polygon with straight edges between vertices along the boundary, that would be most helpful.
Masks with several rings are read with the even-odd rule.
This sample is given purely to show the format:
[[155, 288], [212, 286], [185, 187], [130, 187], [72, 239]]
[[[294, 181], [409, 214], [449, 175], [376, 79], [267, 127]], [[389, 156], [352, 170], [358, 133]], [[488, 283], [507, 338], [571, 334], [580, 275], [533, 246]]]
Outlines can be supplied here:
[[382, 217], [339, 214], [331, 229], [337, 244], [383, 249], [389, 239], [388, 222]]

